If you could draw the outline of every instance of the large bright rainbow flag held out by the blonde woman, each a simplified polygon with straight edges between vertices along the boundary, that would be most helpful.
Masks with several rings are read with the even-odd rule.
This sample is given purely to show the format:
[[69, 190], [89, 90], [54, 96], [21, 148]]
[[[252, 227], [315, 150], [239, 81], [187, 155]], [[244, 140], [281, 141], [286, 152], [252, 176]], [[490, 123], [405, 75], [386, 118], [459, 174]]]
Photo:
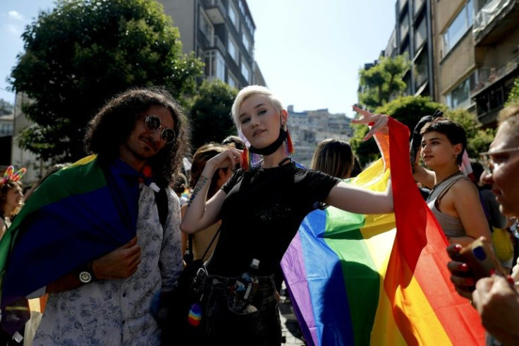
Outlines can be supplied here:
[[450, 282], [444, 233], [413, 181], [408, 129], [389, 120], [389, 162], [380, 159], [351, 184], [384, 191], [391, 175], [395, 213], [316, 210], [281, 261], [305, 340], [484, 345], [477, 312]]

